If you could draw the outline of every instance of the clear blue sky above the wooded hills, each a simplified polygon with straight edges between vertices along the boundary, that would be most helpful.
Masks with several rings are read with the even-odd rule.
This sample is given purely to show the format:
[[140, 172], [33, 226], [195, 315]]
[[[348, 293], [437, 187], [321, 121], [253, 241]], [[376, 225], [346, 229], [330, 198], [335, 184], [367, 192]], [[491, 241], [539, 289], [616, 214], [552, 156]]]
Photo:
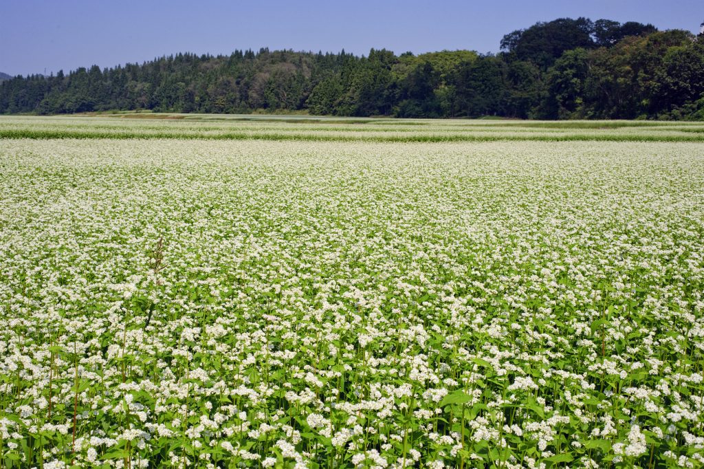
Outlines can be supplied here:
[[151, 60], [177, 52], [372, 47], [396, 54], [498, 51], [536, 21], [586, 16], [698, 32], [703, 0], [0, 0], [0, 72], [10, 75]]

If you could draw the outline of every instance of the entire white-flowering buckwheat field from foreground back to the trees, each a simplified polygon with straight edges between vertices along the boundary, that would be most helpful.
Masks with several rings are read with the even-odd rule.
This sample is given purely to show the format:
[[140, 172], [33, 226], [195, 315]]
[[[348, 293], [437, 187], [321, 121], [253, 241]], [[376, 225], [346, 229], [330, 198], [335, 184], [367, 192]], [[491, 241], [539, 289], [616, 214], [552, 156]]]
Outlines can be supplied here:
[[0, 468], [699, 468], [704, 125], [0, 119]]

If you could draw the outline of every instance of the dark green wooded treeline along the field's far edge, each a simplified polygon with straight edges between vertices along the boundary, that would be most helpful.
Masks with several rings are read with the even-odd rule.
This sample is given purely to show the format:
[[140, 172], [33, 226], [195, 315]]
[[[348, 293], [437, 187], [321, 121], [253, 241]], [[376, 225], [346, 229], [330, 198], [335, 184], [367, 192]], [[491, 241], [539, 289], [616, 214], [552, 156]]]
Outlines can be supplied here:
[[0, 83], [0, 113], [308, 111], [397, 117], [704, 119], [704, 35], [561, 18], [499, 54], [177, 54]]

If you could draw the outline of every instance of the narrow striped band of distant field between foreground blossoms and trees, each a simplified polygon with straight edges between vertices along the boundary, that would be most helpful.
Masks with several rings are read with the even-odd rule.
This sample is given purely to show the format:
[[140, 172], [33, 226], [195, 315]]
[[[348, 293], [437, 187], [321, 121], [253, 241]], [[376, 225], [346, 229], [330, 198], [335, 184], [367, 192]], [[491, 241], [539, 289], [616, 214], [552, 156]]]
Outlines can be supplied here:
[[704, 123], [106, 114], [0, 118], [0, 138], [223, 139], [328, 142], [704, 142]]

